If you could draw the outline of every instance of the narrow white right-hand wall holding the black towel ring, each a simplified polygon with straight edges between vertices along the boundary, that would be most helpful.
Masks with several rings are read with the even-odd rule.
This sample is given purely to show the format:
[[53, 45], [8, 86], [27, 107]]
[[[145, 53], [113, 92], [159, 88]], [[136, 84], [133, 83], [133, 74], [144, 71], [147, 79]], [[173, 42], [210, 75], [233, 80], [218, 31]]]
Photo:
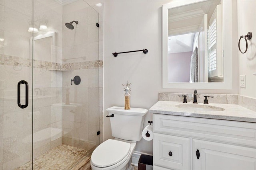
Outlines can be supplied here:
[[[238, 0], [238, 37], [252, 32], [252, 39], [248, 40], [248, 50], [242, 54], [238, 50], [239, 74], [246, 75], [246, 88], [239, 88], [239, 94], [256, 98], [256, 1]], [[241, 40], [242, 49], [245, 42]]]

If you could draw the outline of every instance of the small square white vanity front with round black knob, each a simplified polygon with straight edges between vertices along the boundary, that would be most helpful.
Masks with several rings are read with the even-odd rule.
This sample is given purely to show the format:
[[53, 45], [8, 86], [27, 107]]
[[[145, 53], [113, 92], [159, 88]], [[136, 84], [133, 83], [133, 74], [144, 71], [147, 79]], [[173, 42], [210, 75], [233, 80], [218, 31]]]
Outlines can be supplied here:
[[154, 133], [153, 163], [175, 170], [190, 169], [190, 138]]

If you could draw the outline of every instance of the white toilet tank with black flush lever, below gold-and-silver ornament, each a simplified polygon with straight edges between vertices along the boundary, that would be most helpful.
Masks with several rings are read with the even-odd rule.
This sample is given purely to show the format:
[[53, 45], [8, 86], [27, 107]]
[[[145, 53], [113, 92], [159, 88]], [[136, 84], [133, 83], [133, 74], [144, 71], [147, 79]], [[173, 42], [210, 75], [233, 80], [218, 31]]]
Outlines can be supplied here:
[[144, 115], [147, 109], [130, 108], [125, 110], [124, 107], [113, 106], [108, 109], [108, 115], [114, 115], [110, 118], [112, 136], [129, 141], [140, 141], [142, 138], [142, 128]]

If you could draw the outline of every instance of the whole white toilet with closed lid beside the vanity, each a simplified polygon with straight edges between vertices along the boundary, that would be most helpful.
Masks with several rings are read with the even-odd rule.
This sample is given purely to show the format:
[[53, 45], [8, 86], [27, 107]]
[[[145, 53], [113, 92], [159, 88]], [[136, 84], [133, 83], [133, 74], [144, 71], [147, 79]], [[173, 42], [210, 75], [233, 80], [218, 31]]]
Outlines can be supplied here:
[[100, 144], [91, 156], [92, 170], [133, 170], [132, 152], [142, 138], [144, 116], [147, 109], [110, 107], [106, 109], [110, 119], [112, 136]]

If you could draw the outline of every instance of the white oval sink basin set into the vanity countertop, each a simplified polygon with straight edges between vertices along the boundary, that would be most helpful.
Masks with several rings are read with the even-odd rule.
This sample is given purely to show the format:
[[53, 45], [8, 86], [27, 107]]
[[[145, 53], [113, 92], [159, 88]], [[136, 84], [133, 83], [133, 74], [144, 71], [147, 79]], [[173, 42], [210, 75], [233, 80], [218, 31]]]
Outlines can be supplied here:
[[210, 105], [198, 105], [198, 104], [178, 104], [175, 107], [182, 108], [186, 111], [223, 111], [222, 107], [210, 106]]

